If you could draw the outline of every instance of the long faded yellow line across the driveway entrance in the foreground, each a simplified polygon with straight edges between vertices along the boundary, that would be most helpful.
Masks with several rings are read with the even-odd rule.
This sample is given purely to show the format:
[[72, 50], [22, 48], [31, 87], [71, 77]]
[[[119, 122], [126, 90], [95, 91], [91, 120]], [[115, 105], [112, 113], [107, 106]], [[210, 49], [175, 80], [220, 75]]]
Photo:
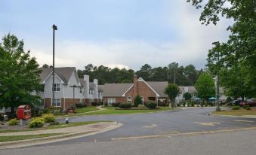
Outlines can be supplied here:
[[122, 138], [111, 138], [111, 140], [112, 141], [120, 141], [120, 140], [143, 139], [143, 138], [165, 138], [165, 137], [177, 136], [177, 135], [202, 135], [202, 134], [209, 134], [209, 133], [248, 131], [248, 130], [254, 130], [254, 129], [256, 129], [256, 127], [211, 130], [211, 131], [203, 131], [203, 132], [169, 133], [169, 134], [162, 134], [162, 135], [142, 135], [142, 136], [131, 136], [131, 137], [122, 137]]

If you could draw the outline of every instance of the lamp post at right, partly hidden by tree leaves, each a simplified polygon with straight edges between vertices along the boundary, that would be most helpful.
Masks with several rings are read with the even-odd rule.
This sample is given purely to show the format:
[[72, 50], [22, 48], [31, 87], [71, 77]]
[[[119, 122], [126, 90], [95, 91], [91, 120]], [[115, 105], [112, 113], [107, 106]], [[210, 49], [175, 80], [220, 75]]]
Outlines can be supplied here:
[[[220, 42], [217, 41], [217, 42], [213, 42], [212, 44], [214, 44], [215, 46], [218, 46], [218, 45], [220, 45]], [[217, 77], [216, 77], [216, 87], [217, 88], [216, 88], [216, 99], [215, 99], [215, 102], [216, 102], [216, 105], [217, 105], [216, 111], [221, 111], [220, 104], [219, 104], [219, 96], [220, 96], [219, 61], [220, 61], [220, 50], [217, 50], [217, 63], [216, 63], [217, 64]]]

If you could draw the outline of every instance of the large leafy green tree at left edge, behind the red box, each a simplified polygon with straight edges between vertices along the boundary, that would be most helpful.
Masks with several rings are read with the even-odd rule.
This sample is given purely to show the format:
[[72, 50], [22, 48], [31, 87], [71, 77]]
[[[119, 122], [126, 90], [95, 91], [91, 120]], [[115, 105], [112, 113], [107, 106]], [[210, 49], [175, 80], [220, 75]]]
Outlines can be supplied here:
[[40, 97], [31, 93], [41, 89], [35, 57], [24, 52], [23, 41], [6, 35], [0, 44], [0, 104], [14, 107], [22, 104], [39, 105]]

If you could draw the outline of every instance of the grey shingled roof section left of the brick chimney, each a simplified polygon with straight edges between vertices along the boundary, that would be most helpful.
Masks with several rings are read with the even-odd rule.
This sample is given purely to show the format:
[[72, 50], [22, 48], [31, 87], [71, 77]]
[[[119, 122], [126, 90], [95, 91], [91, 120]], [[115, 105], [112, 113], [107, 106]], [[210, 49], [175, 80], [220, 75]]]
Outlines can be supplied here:
[[103, 87], [103, 96], [122, 96], [132, 84], [105, 84]]

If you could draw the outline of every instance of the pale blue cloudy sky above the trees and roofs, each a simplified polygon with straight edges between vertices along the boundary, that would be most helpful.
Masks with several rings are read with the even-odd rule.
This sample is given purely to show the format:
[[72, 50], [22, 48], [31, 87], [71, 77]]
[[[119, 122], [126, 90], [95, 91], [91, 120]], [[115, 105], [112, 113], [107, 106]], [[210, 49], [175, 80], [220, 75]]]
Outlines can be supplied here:
[[202, 25], [201, 11], [187, 0], [2, 0], [0, 37], [16, 35], [39, 65], [52, 65], [55, 24], [56, 67], [92, 63], [136, 71], [177, 62], [199, 69], [211, 43], [230, 35], [230, 21]]

